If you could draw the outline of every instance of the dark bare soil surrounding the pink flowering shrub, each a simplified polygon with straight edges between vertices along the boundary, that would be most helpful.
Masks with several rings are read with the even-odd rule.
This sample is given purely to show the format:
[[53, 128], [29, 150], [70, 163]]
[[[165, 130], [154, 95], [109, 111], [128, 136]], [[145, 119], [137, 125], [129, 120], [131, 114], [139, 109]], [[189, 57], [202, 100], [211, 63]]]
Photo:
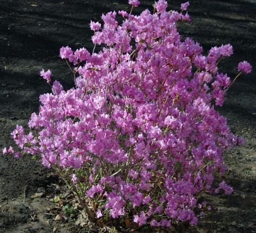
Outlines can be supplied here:
[[[41, 68], [50, 68], [53, 78], [70, 88], [72, 78], [59, 49], [87, 47], [92, 51], [90, 20], [102, 13], [128, 9], [128, 0], [0, 0], [0, 147], [13, 145], [9, 133], [16, 124], [25, 126], [39, 107], [39, 95], [50, 88], [39, 78]], [[153, 0], [141, 1], [135, 12], [150, 8]], [[169, 1], [179, 9], [181, 1]], [[191, 23], [180, 32], [201, 43], [205, 51], [231, 43], [234, 55], [222, 64], [222, 71], [236, 76], [239, 61], [248, 60], [254, 71], [241, 77], [229, 89], [220, 112], [233, 133], [246, 144], [224, 153], [228, 164], [225, 179], [234, 187], [228, 197], [206, 197], [213, 206], [210, 216], [198, 227], [180, 231], [256, 232], [256, 0], [191, 0]], [[23, 157], [0, 157], [0, 232], [69, 232], [71, 224], [56, 224], [46, 218], [51, 203], [31, 199], [38, 188], [48, 192], [49, 171], [40, 161]], [[218, 211], [217, 211], [218, 210]], [[55, 217], [55, 216], [54, 216]], [[55, 228], [54, 228], [55, 227]], [[57, 228], [56, 228], [57, 227]]]

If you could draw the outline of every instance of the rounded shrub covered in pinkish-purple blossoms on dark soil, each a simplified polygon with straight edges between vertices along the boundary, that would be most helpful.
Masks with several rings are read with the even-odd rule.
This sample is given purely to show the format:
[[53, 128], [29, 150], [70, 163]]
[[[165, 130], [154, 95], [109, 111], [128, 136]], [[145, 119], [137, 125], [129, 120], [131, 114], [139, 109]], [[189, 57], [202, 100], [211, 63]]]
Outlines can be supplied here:
[[[41, 157], [70, 185], [92, 221], [194, 225], [198, 211], [211, 209], [198, 202], [201, 193], [233, 191], [224, 181], [213, 187], [226, 170], [222, 150], [243, 144], [215, 110], [231, 84], [217, 66], [232, 46], [203, 55], [177, 32], [176, 22], [190, 20], [189, 3], [181, 13], [166, 7], [159, 0], [154, 13], [119, 11], [121, 24], [116, 12], [103, 14], [103, 25], [91, 22], [92, 42], [103, 49], [62, 47], [75, 87], [64, 91], [54, 81], [53, 93], [40, 96], [30, 133], [22, 126], [12, 133], [23, 154]], [[239, 63], [239, 75], [251, 69]], [[50, 70], [40, 74], [51, 83]]]

